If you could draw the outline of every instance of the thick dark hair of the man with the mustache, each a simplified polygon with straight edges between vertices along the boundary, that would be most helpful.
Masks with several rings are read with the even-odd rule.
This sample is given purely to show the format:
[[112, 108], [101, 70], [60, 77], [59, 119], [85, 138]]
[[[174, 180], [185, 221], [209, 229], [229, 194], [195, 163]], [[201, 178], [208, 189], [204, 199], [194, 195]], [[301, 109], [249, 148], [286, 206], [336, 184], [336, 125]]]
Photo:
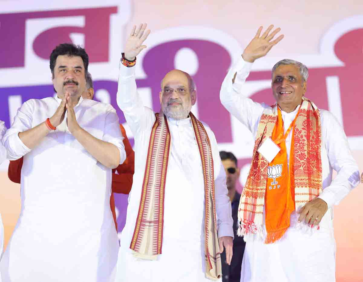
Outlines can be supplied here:
[[54, 67], [56, 66], [56, 60], [59, 55], [69, 55], [69, 56], [79, 56], [82, 58], [83, 65], [85, 66], [85, 75], [88, 72], [88, 55], [80, 46], [76, 46], [70, 43], [59, 44], [50, 54], [49, 57], [49, 67], [54, 78]]

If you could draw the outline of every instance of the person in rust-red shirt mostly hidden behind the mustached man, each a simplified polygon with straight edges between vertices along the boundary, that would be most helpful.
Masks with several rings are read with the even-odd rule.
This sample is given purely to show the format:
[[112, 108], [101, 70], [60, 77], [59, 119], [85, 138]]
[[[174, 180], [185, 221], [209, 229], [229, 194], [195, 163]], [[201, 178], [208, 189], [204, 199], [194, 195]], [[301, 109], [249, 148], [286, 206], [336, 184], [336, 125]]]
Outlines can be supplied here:
[[[94, 89], [93, 80], [89, 72], [86, 75], [86, 90], [83, 92], [83, 99], [93, 99]], [[125, 128], [120, 124], [123, 144], [125, 145], [126, 160], [117, 168], [112, 170], [112, 192], [110, 196], [110, 208], [117, 229], [116, 211], [115, 211], [115, 198], [114, 193], [129, 194], [132, 186], [132, 176], [134, 175], [134, 162], [135, 153], [132, 150], [129, 139], [127, 139]], [[20, 183], [21, 168], [23, 167], [23, 158], [18, 160], [11, 160], [8, 168], [8, 176], [12, 182]]]

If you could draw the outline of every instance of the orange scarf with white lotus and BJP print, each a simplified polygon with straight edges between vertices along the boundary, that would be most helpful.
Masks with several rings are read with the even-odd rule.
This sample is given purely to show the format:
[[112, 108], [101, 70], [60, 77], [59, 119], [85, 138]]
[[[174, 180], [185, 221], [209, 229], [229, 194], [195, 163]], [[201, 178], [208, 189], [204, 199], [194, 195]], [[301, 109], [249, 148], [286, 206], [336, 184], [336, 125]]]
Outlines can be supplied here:
[[[265, 243], [273, 243], [285, 234], [290, 226], [290, 215], [295, 210], [295, 202], [291, 194], [291, 179], [293, 170], [287, 167], [287, 151], [285, 139], [294, 127], [295, 121], [290, 124], [284, 136], [284, 122], [281, 110], [277, 109], [277, 123], [272, 131], [272, 140], [280, 147], [272, 162], [268, 166], [268, 178], [266, 182], [265, 196], [265, 225], [267, 237]], [[284, 138], [282, 138], [284, 136]], [[293, 167], [294, 137], [291, 142], [289, 168]]]

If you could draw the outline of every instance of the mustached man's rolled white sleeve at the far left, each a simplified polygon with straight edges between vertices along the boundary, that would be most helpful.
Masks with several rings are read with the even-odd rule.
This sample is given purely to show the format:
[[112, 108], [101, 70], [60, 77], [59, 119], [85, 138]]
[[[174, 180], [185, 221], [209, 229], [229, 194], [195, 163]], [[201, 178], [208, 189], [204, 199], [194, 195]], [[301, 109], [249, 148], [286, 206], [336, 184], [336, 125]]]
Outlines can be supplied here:
[[7, 150], [7, 158], [9, 160], [17, 160], [30, 152], [31, 150], [25, 146], [19, 138], [19, 132], [23, 132], [32, 128], [34, 100], [26, 101], [18, 110], [12, 126], [5, 133], [3, 145]]

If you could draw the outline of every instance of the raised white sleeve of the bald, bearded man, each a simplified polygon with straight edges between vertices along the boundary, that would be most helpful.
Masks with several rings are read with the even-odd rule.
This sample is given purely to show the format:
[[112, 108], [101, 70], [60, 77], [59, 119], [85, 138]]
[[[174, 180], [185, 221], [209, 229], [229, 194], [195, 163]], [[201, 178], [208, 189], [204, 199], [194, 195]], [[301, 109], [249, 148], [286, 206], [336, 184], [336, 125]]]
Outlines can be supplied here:
[[127, 124], [134, 136], [137, 132], [152, 126], [155, 114], [150, 108], [145, 107], [136, 90], [135, 67], [125, 67], [120, 63], [117, 105], [125, 115]]

